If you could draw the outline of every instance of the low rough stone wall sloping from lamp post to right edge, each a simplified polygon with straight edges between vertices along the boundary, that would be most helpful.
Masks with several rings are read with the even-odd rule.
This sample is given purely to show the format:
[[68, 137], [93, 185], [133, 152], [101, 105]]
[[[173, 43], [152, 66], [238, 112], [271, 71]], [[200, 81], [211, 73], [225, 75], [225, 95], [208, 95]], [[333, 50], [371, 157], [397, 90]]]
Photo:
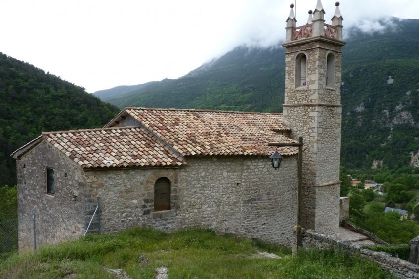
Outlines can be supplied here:
[[[294, 232], [294, 239], [296, 233]], [[396, 278], [419, 278], [419, 265], [396, 258], [385, 252], [375, 252], [364, 248], [355, 243], [344, 242], [335, 237], [316, 233], [312, 230], [303, 230], [302, 232], [303, 248], [327, 249], [335, 248], [349, 252], [351, 255], [357, 255], [376, 262], [384, 271]]]

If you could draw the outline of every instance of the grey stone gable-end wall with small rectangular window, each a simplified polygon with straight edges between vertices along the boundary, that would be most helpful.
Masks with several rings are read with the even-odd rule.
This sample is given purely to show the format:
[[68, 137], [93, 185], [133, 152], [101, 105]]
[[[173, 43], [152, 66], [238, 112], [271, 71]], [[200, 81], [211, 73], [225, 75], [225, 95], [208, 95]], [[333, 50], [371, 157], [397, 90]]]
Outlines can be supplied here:
[[[52, 168], [55, 194], [46, 193], [46, 167]], [[19, 250], [77, 239], [84, 233], [85, 192], [79, 170], [46, 141], [17, 160]]]

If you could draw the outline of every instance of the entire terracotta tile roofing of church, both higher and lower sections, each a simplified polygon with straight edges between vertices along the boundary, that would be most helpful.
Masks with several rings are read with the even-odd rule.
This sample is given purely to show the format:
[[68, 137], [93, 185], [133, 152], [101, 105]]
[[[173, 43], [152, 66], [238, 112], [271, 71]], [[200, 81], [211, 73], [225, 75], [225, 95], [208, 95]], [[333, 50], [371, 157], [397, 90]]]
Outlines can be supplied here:
[[[140, 127], [114, 127], [130, 115]], [[42, 133], [12, 156], [45, 139], [82, 168], [182, 166], [183, 156], [271, 155], [269, 142], [295, 142], [282, 114], [186, 109], [126, 108], [103, 129]], [[296, 147], [281, 147], [282, 155]]]

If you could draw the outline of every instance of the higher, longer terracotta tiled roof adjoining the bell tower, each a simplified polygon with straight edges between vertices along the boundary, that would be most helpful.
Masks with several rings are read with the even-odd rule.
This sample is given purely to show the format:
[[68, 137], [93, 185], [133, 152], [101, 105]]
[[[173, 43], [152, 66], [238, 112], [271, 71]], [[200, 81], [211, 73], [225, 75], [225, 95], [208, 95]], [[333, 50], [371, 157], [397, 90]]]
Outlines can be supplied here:
[[[271, 155], [269, 142], [294, 142], [277, 132], [289, 131], [279, 113], [246, 113], [128, 107], [109, 126], [130, 115], [182, 156]], [[282, 155], [297, 153], [281, 147]]]

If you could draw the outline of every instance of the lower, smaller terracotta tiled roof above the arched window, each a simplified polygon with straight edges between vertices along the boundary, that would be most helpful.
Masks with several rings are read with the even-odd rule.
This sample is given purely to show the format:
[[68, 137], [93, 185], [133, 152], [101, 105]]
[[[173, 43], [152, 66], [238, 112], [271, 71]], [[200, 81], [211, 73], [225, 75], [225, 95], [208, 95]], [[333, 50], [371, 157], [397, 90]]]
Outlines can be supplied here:
[[82, 168], [185, 164], [174, 150], [139, 127], [47, 132], [42, 137]]

